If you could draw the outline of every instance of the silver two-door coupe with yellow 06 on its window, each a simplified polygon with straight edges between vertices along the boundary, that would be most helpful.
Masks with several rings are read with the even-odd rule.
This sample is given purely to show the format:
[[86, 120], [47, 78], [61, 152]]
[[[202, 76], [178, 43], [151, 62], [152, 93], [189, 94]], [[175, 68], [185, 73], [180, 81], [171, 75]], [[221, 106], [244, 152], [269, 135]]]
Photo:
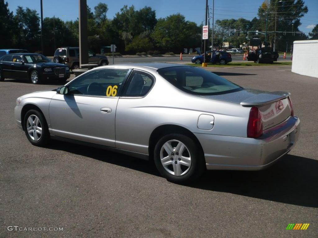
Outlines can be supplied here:
[[15, 119], [33, 145], [51, 138], [153, 159], [172, 182], [205, 169], [266, 168], [294, 147], [300, 129], [287, 92], [165, 63], [94, 68], [18, 97]]

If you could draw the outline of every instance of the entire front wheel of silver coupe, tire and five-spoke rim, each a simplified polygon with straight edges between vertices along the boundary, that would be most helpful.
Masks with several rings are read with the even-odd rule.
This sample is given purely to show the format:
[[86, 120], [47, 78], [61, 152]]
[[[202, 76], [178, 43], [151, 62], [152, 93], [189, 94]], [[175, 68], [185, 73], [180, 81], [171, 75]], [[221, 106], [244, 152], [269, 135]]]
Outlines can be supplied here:
[[43, 146], [50, 138], [45, 118], [38, 110], [29, 110], [24, 116], [24, 132], [32, 145]]

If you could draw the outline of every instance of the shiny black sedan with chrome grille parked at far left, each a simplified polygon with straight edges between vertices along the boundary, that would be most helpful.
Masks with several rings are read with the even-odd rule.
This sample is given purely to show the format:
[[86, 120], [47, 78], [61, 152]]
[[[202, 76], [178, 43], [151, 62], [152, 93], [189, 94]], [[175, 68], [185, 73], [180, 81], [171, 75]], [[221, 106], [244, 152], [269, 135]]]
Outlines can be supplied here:
[[38, 84], [45, 80], [65, 82], [70, 69], [65, 64], [52, 63], [41, 54], [17, 53], [0, 58], [0, 81], [4, 78], [28, 79]]

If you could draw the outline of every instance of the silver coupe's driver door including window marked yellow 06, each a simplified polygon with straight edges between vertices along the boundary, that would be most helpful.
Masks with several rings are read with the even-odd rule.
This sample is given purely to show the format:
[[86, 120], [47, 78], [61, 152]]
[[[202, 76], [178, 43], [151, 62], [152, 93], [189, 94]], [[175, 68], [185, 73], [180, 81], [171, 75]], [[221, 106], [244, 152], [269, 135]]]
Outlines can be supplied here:
[[49, 106], [51, 135], [115, 147], [115, 113], [130, 69], [96, 69], [67, 84]]

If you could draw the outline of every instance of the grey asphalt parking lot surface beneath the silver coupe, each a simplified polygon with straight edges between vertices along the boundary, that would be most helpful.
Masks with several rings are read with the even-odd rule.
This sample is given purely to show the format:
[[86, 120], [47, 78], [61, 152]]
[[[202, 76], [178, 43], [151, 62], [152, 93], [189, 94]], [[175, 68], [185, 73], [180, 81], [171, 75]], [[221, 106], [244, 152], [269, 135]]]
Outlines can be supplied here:
[[[187, 186], [126, 155], [32, 146], [14, 121], [16, 98], [58, 84], [0, 82], [0, 237], [318, 237], [318, 79], [290, 69], [209, 69], [246, 88], [291, 92], [301, 137], [269, 169], [209, 171]], [[286, 230], [289, 223], [310, 225]]]

